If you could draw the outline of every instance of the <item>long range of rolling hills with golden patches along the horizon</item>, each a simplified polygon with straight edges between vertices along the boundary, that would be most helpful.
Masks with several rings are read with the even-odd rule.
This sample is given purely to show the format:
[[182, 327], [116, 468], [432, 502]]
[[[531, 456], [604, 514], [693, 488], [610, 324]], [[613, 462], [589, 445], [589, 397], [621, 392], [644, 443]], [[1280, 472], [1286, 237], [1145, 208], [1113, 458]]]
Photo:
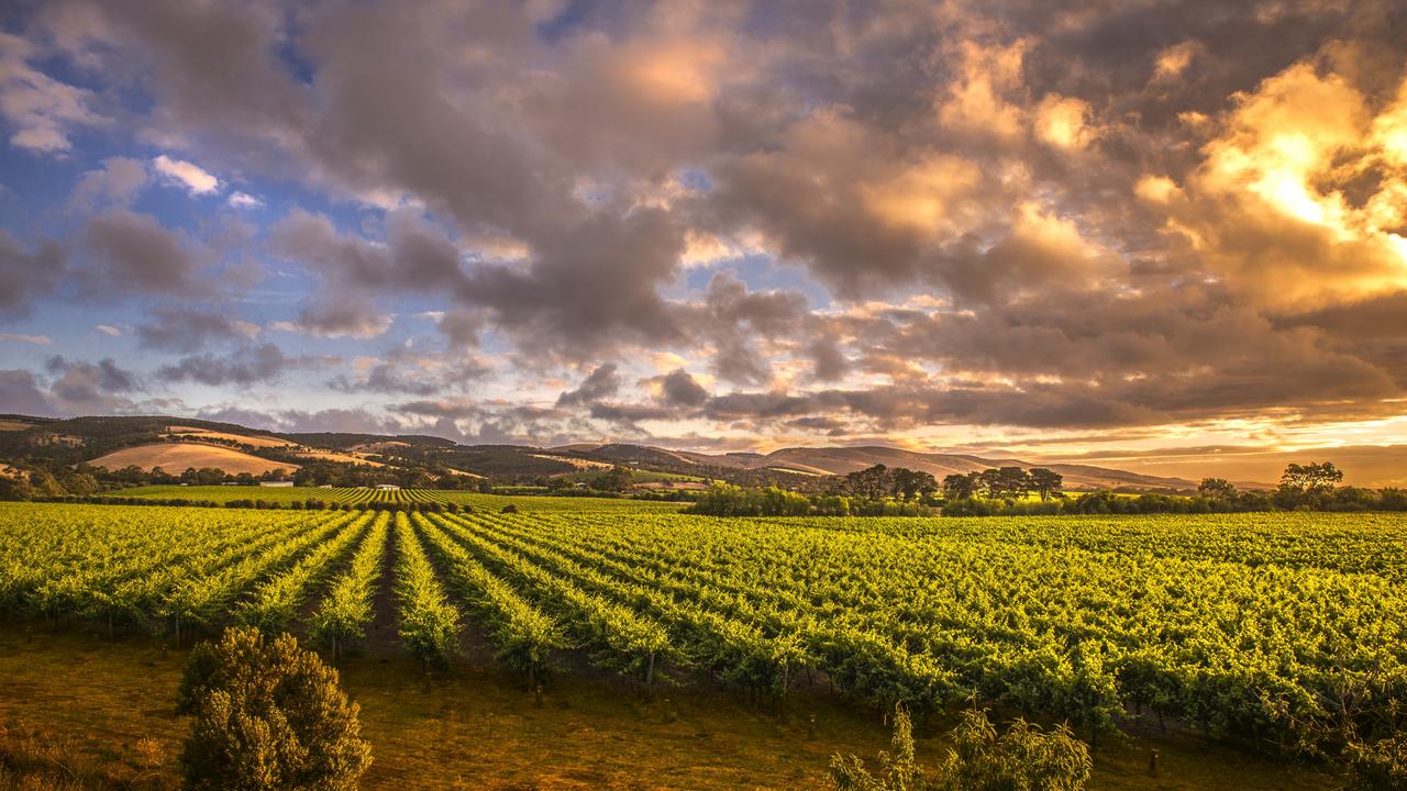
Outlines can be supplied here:
[[[1183, 477], [1134, 473], [1095, 464], [1041, 464], [1012, 457], [922, 453], [879, 445], [858, 448], [782, 448], [771, 453], [699, 453], [632, 443], [457, 445], [428, 435], [277, 434], [235, 424], [170, 417], [94, 417], [48, 419], [0, 415], [0, 460], [42, 459], [61, 464], [93, 463], [167, 472], [214, 466], [231, 473], [288, 470], [310, 464], [376, 467], [388, 474], [421, 470], [431, 479], [447, 473], [492, 477], [501, 483], [542, 483], [625, 464], [650, 473], [720, 479], [744, 486], [805, 486], [817, 476], [841, 476], [874, 464], [923, 470], [937, 479], [989, 467], [1044, 466], [1065, 476], [1071, 490], [1186, 490]], [[190, 445], [200, 450], [173, 450]], [[225, 453], [214, 449], [221, 446]], [[127, 450], [125, 455], [117, 455]], [[115, 460], [114, 460], [115, 456]], [[160, 457], [160, 462], [152, 459]], [[198, 463], [197, 463], [198, 460]]]

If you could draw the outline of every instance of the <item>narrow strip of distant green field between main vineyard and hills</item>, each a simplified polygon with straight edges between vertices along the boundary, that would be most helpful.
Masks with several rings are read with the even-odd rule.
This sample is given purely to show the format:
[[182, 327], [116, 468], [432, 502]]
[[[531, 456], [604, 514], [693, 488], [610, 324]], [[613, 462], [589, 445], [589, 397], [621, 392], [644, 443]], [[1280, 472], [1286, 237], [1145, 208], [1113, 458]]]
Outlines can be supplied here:
[[118, 497], [142, 497], [149, 500], [204, 500], [229, 502], [231, 500], [263, 500], [266, 502], [457, 502], [487, 511], [498, 511], [514, 504], [523, 511], [677, 511], [687, 502], [664, 502], [649, 500], [628, 500], [615, 497], [559, 497], [559, 495], [507, 495], [480, 494], [450, 488], [402, 488], [378, 491], [374, 488], [318, 488], [307, 486], [139, 486], [113, 493]]

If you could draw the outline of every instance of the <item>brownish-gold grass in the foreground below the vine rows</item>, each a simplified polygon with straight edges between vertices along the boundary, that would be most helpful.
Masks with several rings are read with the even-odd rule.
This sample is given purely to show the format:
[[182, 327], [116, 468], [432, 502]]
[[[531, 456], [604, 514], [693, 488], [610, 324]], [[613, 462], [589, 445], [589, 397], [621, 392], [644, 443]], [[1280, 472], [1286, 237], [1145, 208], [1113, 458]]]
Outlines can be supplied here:
[[[114, 784], [173, 788], [189, 721], [173, 714], [186, 652], [148, 639], [0, 625], [0, 726], [63, 742], [70, 760]], [[874, 711], [801, 694], [784, 718], [709, 687], [644, 704], [613, 678], [563, 673], [543, 707], [481, 645], [426, 690], [404, 656], [343, 660], [374, 763], [364, 788], [813, 790], [834, 752], [874, 757], [888, 730]], [[815, 726], [810, 718], [815, 716]], [[922, 760], [943, 754], [943, 728], [919, 728]], [[142, 739], [165, 760], [144, 768]], [[1150, 752], [1159, 773], [1148, 774]], [[1245, 754], [1188, 733], [1138, 735], [1095, 753], [1092, 791], [1327, 791], [1321, 768]]]

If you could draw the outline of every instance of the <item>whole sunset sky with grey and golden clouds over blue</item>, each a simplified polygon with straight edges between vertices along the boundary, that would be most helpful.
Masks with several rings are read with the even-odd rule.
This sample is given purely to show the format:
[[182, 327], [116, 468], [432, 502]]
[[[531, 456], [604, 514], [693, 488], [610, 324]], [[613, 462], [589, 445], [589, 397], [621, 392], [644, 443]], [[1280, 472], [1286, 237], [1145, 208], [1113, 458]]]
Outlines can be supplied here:
[[1396, 0], [6, 3], [0, 411], [1407, 480], [1404, 42]]

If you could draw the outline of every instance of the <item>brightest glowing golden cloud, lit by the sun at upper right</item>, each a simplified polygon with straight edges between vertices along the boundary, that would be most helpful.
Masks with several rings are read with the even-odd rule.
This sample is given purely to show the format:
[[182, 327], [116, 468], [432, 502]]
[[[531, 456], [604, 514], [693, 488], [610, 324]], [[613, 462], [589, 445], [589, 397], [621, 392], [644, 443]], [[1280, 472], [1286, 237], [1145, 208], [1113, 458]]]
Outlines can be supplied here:
[[1382, 104], [1300, 62], [1237, 97], [1183, 184], [1148, 175], [1135, 194], [1233, 289], [1323, 305], [1407, 287], [1404, 145], [1407, 80]]

